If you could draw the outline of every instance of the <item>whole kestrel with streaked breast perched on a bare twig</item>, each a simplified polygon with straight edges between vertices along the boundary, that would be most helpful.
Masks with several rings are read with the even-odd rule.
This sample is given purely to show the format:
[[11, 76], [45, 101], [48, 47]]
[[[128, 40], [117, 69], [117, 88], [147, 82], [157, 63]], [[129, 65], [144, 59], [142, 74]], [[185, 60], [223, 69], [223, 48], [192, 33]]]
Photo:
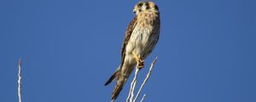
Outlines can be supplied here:
[[134, 67], [143, 68], [143, 59], [152, 52], [160, 36], [160, 12], [153, 2], [140, 2], [134, 7], [136, 16], [125, 31], [121, 49], [121, 64], [105, 85], [117, 79], [112, 94], [116, 99]]

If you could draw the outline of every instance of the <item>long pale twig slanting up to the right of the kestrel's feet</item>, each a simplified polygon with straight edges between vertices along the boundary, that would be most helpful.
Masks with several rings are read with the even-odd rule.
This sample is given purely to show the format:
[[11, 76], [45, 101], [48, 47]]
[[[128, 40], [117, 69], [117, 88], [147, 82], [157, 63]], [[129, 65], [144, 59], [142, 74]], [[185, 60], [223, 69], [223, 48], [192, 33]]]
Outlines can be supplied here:
[[149, 76], [150, 76], [150, 74], [151, 74], [152, 68], [154, 67], [154, 63], [155, 63], [156, 60], [157, 60], [157, 57], [155, 57], [155, 58], [154, 58], [154, 61], [151, 63], [150, 68], [149, 68], [149, 71], [148, 71], [148, 74], [147, 74], [147, 77], [144, 79], [143, 84], [142, 84], [141, 87], [139, 88], [135, 99], [133, 99], [133, 102], [135, 102], [135, 101], [137, 100], [137, 98], [138, 98], [138, 96], [140, 95], [140, 93], [141, 93], [141, 91], [142, 91], [142, 89], [143, 89], [145, 83], [148, 81], [148, 78], [149, 78]]

